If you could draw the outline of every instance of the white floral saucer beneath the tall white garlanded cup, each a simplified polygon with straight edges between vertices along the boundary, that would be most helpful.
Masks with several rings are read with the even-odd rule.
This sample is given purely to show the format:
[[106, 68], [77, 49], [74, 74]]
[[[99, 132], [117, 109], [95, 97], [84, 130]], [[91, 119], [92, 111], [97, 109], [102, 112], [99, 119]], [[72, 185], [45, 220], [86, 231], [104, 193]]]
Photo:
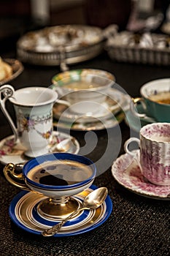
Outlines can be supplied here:
[[[55, 145], [69, 138], [72, 140], [72, 143], [70, 143], [69, 148], [66, 148], [65, 152], [77, 154], [80, 151], [80, 144], [78, 141], [66, 133], [56, 131], [53, 131], [53, 140], [51, 140], [51, 143], [48, 146], [49, 152], [61, 152], [56, 149]], [[23, 148], [20, 143], [14, 143], [13, 135], [4, 138], [0, 141], [0, 162], [4, 165], [7, 165], [9, 162], [12, 162], [15, 165], [26, 162], [28, 161], [28, 157], [24, 155], [24, 151], [25, 148]]]

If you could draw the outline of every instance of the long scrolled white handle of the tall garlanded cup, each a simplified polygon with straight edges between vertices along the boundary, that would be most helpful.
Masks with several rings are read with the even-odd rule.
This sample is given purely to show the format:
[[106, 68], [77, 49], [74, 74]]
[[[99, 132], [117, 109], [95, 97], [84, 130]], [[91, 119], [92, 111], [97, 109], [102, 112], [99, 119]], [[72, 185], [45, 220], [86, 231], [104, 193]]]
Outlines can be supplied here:
[[4, 116], [6, 116], [7, 121], [9, 121], [9, 124], [12, 128], [12, 132], [14, 133], [14, 136], [15, 136], [15, 142], [16, 142], [18, 140], [18, 131], [15, 127], [14, 122], [12, 121], [12, 118], [9, 116], [9, 113], [5, 108], [6, 100], [12, 97], [12, 95], [14, 94], [14, 91], [15, 91], [14, 88], [7, 84], [0, 87], [0, 107], [2, 112], [4, 113]]

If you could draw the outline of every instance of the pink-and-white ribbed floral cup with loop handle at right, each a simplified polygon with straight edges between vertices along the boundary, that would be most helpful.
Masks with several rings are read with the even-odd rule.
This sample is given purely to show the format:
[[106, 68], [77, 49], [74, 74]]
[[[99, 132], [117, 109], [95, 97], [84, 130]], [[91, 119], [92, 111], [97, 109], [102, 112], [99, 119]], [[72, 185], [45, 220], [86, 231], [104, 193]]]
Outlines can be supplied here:
[[170, 185], [170, 123], [147, 124], [140, 130], [140, 140], [126, 140], [125, 152], [136, 157], [135, 151], [130, 151], [130, 143], [139, 144], [139, 166], [142, 174], [152, 184]]

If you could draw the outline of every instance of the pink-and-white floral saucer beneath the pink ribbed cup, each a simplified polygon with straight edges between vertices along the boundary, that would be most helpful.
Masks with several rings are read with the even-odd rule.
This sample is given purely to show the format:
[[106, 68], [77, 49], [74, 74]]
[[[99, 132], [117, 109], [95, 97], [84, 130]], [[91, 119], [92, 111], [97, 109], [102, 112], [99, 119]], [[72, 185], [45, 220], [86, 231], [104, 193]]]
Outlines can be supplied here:
[[138, 163], [129, 154], [123, 154], [112, 165], [112, 176], [126, 189], [155, 199], [170, 200], [170, 186], [151, 184], [141, 173]]

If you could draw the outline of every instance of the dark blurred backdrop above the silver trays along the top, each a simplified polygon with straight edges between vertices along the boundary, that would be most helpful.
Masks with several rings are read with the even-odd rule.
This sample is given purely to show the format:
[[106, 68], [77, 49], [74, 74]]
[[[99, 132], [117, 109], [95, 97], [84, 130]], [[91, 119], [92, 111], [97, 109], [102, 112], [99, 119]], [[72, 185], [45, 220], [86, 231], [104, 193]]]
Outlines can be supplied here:
[[[0, 0], [0, 51], [14, 48], [26, 31], [61, 24], [87, 24], [137, 31], [144, 20], [159, 20], [153, 31], [169, 18], [170, 0]], [[160, 18], [161, 17], [161, 18]], [[152, 22], [152, 20], [151, 20]]]

